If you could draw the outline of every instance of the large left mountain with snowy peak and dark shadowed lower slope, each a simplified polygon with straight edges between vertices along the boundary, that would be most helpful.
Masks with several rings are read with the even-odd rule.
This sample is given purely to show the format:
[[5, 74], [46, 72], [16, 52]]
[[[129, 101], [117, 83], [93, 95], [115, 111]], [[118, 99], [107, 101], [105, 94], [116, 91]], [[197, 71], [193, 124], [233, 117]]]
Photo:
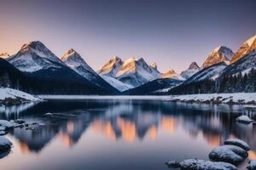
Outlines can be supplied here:
[[[77, 55], [70, 57], [70, 59], [73, 58], [77, 59], [78, 57]], [[9, 81], [9, 87], [18, 88], [31, 94], [119, 93], [96, 72], [93, 72], [89, 65], [87, 66], [90, 77], [85, 78], [84, 75], [76, 72], [81, 67], [73, 71], [42, 42], [24, 44], [17, 54], [8, 58], [8, 61], [9, 63], [1, 59], [0, 64], [3, 65], [1, 66], [3, 71], [0, 78]], [[68, 61], [70, 60], [68, 59]]]

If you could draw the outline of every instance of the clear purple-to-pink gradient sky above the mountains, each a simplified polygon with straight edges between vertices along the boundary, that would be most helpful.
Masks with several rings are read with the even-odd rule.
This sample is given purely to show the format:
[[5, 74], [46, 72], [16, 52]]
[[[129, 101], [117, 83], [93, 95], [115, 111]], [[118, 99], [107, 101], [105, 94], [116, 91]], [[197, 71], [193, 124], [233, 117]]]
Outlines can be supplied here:
[[254, 0], [0, 0], [0, 53], [39, 40], [59, 57], [74, 48], [95, 70], [118, 55], [180, 72], [219, 45], [236, 52], [256, 34], [255, 8]]

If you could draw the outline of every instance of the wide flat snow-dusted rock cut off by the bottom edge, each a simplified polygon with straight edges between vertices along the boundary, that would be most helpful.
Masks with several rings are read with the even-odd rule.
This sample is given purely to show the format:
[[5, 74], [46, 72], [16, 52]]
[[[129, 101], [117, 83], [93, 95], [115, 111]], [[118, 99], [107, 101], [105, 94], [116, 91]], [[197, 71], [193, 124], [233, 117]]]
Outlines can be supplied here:
[[180, 168], [182, 170], [237, 170], [237, 168], [230, 163], [196, 159], [189, 159], [180, 162]]

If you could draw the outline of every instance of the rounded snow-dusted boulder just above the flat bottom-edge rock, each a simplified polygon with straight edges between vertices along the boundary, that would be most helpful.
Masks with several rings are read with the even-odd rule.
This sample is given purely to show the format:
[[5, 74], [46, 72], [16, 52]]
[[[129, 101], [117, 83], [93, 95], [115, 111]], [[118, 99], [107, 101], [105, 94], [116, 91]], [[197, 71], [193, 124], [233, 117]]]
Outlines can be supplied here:
[[234, 151], [223, 146], [214, 148], [210, 152], [209, 158], [213, 161], [224, 161], [232, 164], [238, 164], [241, 161], [244, 161], [243, 157], [237, 155]]

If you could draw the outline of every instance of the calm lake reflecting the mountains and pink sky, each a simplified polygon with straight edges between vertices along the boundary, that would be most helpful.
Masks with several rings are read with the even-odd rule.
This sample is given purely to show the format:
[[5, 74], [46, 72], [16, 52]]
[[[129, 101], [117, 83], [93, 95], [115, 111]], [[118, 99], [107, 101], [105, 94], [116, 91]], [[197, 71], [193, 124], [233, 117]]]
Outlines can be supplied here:
[[[51, 116], [44, 115], [52, 113]], [[51, 100], [1, 107], [1, 119], [38, 122], [35, 129], [15, 128], [5, 135], [9, 153], [3, 170], [158, 170], [165, 162], [208, 159], [212, 148], [230, 137], [245, 140], [256, 159], [256, 108], [239, 105], [176, 104], [164, 100]], [[244, 168], [247, 161], [240, 165]]]

